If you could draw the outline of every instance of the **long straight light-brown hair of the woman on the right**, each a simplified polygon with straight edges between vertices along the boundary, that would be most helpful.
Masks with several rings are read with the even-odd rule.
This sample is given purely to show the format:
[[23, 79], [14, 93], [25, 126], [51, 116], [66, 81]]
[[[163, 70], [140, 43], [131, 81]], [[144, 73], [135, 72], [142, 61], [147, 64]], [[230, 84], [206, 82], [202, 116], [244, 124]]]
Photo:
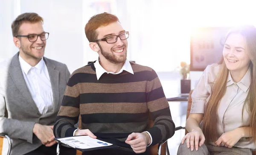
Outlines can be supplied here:
[[[246, 42], [246, 51], [248, 57], [250, 58], [250, 88], [248, 95], [245, 99], [244, 106], [242, 109], [242, 118], [243, 112], [246, 105], [248, 105], [247, 111], [250, 113], [250, 135], [252, 135], [254, 143], [256, 142], [256, 28], [254, 26], [240, 26], [230, 30], [227, 33], [226, 40], [230, 34], [238, 33], [244, 36]], [[209, 98], [209, 101], [206, 106], [204, 113], [204, 123], [203, 123], [203, 133], [207, 142], [216, 141], [218, 139], [218, 106], [219, 101], [224, 96], [226, 92], [226, 84], [229, 70], [223, 60], [219, 62], [221, 64], [220, 71], [218, 76], [215, 79], [214, 85], [212, 87], [212, 95]]]

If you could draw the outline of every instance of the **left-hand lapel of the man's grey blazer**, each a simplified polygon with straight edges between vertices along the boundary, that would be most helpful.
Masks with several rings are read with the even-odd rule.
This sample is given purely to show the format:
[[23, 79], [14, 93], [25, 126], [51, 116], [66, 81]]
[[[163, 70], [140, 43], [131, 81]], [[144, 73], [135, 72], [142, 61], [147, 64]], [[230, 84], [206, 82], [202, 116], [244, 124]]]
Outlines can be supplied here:
[[15, 86], [17, 86], [17, 88], [19, 89], [23, 97], [26, 98], [30, 107], [32, 107], [35, 110], [35, 112], [38, 113], [38, 115], [41, 115], [40, 112], [38, 111], [38, 107], [36, 106], [34, 100], [32, 99], [32, 96], [24, 80], [18, 56], [19, 56], [19, 53], [17, 53], [12, 58], [12, 62], [9, 68], [9, 73], [12, 77], [13, 82], [15, 83]]

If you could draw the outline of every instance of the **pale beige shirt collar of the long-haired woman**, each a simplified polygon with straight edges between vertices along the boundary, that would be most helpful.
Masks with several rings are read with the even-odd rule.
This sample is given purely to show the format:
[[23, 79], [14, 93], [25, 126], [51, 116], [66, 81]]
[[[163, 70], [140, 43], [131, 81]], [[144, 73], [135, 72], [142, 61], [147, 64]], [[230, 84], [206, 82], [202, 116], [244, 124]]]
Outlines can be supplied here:
[[[240, 89], [242, 89], [244, 92], [246, 92], [248, 90], [248, 88], [250, 87], [250, 68], [247, 70], [246, 74], [244, 75], [244, 77], [238, 82], [236, 83], [237, 86], [239, 86]], [[231, 77], [231, 74], [229, 72], [229, 75], [227, 77], [227, 86], [232, 85], [233, 83], [235, 83]]]

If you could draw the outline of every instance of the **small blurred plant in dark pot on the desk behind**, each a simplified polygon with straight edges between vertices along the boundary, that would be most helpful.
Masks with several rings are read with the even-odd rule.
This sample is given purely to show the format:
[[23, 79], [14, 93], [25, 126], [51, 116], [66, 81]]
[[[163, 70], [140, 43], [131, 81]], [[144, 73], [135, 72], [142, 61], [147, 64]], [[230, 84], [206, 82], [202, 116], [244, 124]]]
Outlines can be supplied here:
[[190, 65], [186, 62], [180, 63], [180, 92], [181, 94], [189, 94], [191, 89], [191, 80], [189, 79]]

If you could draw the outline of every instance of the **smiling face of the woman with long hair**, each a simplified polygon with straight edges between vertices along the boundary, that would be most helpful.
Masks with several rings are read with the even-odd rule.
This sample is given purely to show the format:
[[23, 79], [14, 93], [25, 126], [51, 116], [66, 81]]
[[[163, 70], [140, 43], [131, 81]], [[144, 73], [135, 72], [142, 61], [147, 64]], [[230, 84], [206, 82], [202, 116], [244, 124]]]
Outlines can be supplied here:
[[227, 37], [223, 57], [230, 72], [247, 72], [250, 59], [246, 51], [246, 40], [241, 34], [233, 33]]

